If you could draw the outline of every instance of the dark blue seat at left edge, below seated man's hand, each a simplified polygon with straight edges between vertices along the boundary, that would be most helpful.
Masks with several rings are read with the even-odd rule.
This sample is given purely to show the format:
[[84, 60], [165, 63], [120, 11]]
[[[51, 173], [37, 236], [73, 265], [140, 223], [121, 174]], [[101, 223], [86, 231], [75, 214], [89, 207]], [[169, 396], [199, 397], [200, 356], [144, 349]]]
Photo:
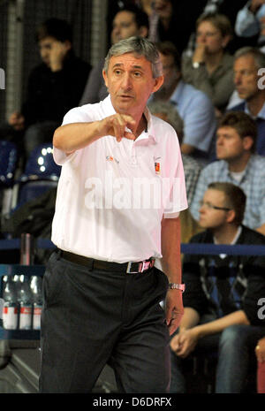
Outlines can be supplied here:
[[12, 186], [17, 164], [17, 146], [11, 141], [0, 141], [0, 187]]

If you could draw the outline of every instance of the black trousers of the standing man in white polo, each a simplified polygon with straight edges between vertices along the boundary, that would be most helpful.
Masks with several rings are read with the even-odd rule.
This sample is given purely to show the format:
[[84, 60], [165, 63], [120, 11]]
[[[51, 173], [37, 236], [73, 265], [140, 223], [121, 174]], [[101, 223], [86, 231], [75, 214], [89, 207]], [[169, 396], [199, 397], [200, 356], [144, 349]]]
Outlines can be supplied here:
[[43, 278], [40, 392], [91, 392], [111, 362], [119, 392], [169, 392], [166, 276], [49, 258]]

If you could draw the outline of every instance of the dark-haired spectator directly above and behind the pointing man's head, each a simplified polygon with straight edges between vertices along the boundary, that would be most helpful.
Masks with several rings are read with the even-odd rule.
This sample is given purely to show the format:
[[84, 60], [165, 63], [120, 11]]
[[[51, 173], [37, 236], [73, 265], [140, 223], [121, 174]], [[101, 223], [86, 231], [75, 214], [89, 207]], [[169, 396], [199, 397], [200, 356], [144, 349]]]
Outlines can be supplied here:
[[[148, 37], [148, 29], [148, 15], [133, 4], [125, 5], [117, 11], [113, 19], [111, 43], [115, 44], [133, 35]], [[99, 103], [109, 94], [102, 76], [104, 62], [105, 58], [102, 57], [91, 70], [79, 106]]]

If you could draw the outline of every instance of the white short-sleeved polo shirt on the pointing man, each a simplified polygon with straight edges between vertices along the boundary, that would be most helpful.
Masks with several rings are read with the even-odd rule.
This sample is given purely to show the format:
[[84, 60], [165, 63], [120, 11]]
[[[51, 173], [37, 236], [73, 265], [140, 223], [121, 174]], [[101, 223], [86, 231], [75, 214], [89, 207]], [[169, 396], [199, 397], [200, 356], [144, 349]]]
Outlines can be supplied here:
[[[63, 125], [115, 114], [110, 95], [70, 110]], [[70, 156], [54, 148], [62, 165], [51, 240], [57, 247], [98, 260], [126, 263], [161, 257], [161, 220], [187, 208], [185, 177], [173, 128], [146, 110], [148, 130], [136, 141], [105, 136]]]

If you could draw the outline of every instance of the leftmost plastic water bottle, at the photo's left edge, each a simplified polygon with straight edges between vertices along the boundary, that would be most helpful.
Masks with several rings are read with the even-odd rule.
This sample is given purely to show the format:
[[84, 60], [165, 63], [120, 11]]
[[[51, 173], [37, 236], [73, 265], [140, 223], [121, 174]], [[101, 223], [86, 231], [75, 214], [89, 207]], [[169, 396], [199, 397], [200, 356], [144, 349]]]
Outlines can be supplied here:
[[11, 276], [4, 276], [3, 280], [3, 327], [6, 330], [16, 330], [19, 320], [16, 285]]

